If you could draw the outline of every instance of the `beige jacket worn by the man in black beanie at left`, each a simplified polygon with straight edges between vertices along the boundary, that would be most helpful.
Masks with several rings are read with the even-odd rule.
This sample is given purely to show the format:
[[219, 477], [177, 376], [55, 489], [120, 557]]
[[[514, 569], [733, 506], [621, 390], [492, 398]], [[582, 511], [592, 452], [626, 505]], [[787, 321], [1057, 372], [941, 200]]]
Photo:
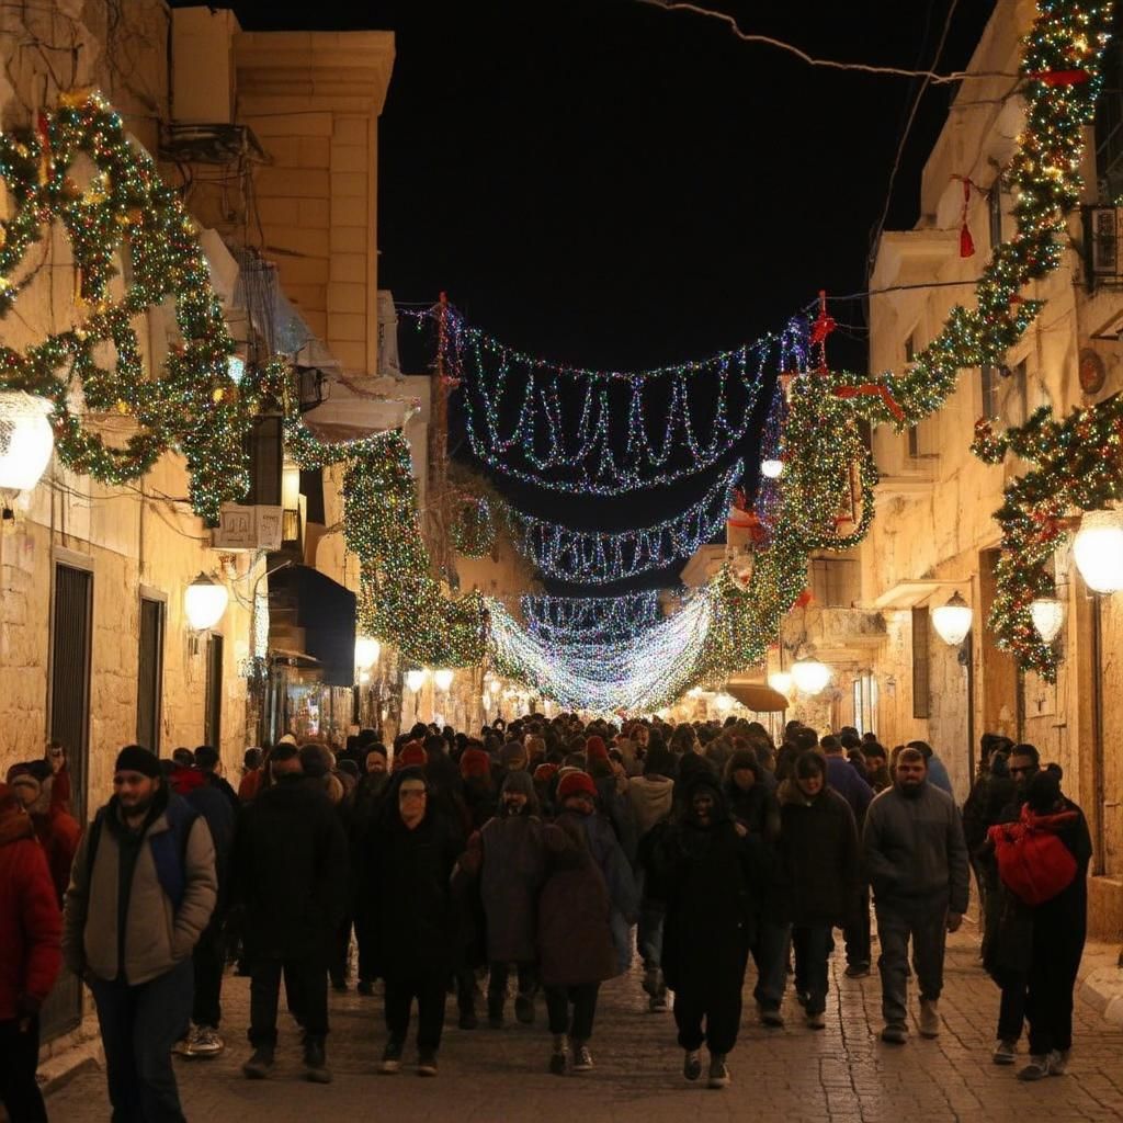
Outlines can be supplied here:
[[164, 892], [156, 871], [150, 842], [170, 830], [167, 806], [172, 800], [179, 796], [162, 786], [141, 828], [125, 921], [124, 962], [118, 955], [117, 877], [118, 838], [126, 828], [116, 796], [104, 809], [92, 869], [88, 851], [93, 831], [82, 836], [63, 915], [63, 956], [75, 975], [93, 974], [107, 982], [124, 978], [133, 986], [147, 983], [186, 959], [210, 921], [218, 896], [218, 876], [214, 846], [202, 815], [188, 830], [183, 848], [184, 889], [179, 907]]

